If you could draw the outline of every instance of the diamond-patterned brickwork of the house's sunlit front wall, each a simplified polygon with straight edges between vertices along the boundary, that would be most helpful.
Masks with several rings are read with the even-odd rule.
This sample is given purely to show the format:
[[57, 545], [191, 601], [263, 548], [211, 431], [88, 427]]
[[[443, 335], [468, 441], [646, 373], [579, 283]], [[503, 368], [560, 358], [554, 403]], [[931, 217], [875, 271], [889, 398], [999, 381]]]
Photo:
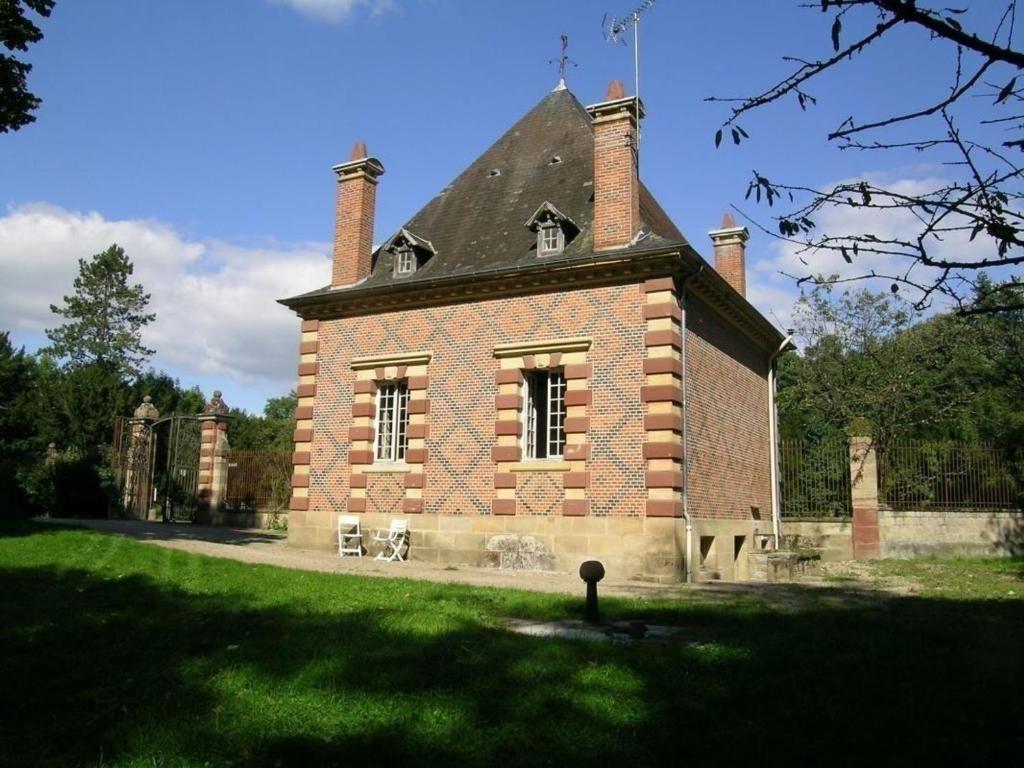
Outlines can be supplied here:
[[[589, 482], [563, 488], [563, 475], [575, 476], [573, 482], [580, 484], [577, 472], [541, 473], [524, 484], [521, 513], [558, 514], [559, 504], [572, 499], [589, 503], [589, 514], [643, 514], [643, 305], [642, 287], [629, 284], [319, 321], [308, 452], [309, 509], [338, 513], [351, 502], [360, 506], [357, 499], [364, 500], [365, 509], [375, 504], [371, 476], [357, 478], [362, 487], [350, 480], [353, 467], [358, 467], [351, 460], [359, 459], [365, 443], [354, 444], [349, 428], [356, 419], [369, 420], [355, 414], [366, 410], [358, 404], [364, 398], [372, 399], [354, 391], [359, 372], [351, 369], [353, 357], [432, 353], [424, 393], [429, 413], [423, 420], [422, 471], [417, 473], [422, 474], [422, 483], [406, 488], [406, 501], [418, 493], [427, 513], [488, 515], [496, 499], [492, 450], [498, 439], [500, 367], [495, 347], [586, 336], [593, 340], [587, 353], [592, 373], [584, 383], [591, 394], [581, 413], [591, 422], [578, 440], [578, 459], [586, 462], [582, 474], [590, 473]], [[529, 475], [532, 478], [534, 473]], [[527, 496], [528, 504], [522, 501]]]

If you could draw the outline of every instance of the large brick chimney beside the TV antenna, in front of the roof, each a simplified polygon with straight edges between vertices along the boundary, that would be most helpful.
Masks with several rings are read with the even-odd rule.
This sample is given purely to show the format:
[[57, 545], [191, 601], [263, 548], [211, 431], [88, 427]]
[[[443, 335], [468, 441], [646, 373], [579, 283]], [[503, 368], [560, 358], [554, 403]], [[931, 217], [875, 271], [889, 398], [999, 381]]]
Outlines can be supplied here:
[[594, 121], [594, 250], [623, 248], [640, 230], [637, 124], [643, 102], [612, 80], [605, 100], [587, 112]]

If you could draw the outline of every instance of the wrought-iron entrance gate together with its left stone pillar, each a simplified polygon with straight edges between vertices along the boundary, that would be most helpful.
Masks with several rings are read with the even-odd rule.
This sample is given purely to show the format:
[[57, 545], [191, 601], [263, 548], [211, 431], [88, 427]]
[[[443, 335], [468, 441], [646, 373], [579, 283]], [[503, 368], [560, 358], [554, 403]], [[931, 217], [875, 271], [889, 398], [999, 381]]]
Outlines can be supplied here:
[[118, 419], [114, 470], [124, 516], [191, 522], [199, 509], [202, 426], [197, 416]]

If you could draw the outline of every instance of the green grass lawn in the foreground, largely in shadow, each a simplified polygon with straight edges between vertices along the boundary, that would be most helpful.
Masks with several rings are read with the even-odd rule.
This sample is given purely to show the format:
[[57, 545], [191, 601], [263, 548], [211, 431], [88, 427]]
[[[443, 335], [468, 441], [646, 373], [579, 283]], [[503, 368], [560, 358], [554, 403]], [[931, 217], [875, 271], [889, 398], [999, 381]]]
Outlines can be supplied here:
[[877, 566], [920, 570], [913, 597], [844, 583], [604, 599], [608, 617], [686, 628], [628, 645], [502, 629], [578, 616], [565, 597], [0, 535], [3, 765], [921, 765], [1024, 749], [1019, 561]]

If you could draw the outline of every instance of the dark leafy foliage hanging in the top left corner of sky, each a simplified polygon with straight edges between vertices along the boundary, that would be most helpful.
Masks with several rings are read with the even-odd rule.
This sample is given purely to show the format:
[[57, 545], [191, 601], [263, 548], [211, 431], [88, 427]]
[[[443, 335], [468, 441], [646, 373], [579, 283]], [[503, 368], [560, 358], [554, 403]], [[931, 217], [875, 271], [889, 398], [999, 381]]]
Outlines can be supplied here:
[[[33, 10], [49, 16], [54, 0], [3, 0], [0, 2], [0, 44], [8, 51], [27, 51], [29, 45], [43, 39], [43, 33], [26, 15]], [[24, 6], [24, 7], [23, 7]], [[32, 114], [41, 100], [28, 88], [32, 65], [7, 53], [0, 53], [0, 133], [16, 131], [36, 120]]]

